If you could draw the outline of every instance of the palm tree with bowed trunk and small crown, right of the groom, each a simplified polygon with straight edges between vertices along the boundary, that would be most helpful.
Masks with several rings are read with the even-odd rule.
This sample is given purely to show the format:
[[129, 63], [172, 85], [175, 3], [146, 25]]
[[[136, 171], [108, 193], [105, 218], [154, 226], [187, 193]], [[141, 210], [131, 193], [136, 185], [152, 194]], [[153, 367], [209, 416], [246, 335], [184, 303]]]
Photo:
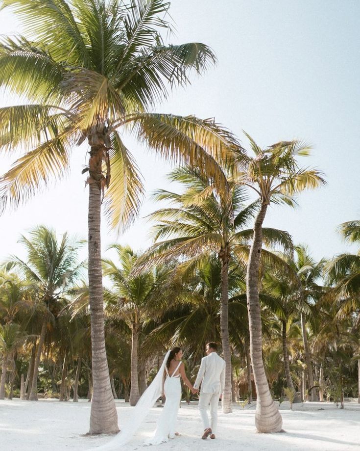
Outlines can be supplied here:
[[251, 362], [258, 395], [255, 424], [259, 432], [279, 432], [283, 421], [269, 391], [262, 356], [259, 264], [263, 246], [263, 222], [271, 202], [293, 205], [294, 194], [316, 188], [325, 184], [325, 181], [321, 172], [301, 168], [296, 160], [297, 157], [309, 155], [309, 146], [299, 141], [281, 141], [262, 149], [249, 135], [246, 136], [255, 156], [249, 160], [248, 170], [242, 175], [242, 181], [255, 190], [261, 200], [254, 223], [246, 274]]

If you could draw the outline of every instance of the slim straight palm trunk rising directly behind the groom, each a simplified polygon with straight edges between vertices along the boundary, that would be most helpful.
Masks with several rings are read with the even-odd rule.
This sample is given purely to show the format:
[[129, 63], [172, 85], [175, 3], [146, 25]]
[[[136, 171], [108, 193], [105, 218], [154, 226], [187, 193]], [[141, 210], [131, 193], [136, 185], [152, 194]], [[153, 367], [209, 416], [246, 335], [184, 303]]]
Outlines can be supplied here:
[[219, 252], [221, 260], [221, 307], [220, 307], [220, 333], [222, 353], [225, 360], [225, 389], [222, 395], [222, 411], [231, 413], [232, 407], [232, 369], [231, 351], [229, 341], [229, 260], [228, 246], [221, 248]]

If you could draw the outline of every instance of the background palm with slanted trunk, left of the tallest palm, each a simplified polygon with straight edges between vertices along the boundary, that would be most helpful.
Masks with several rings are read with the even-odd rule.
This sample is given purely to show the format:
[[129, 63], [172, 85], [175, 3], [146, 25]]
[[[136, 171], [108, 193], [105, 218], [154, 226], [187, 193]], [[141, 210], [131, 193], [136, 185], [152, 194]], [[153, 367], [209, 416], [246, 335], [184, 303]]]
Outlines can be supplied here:
[[59, 299], [80, 273], [82, 265], [77, 262], [77, 248], [81, 242], [69, 239], [67, 234], [58, 241], [55, 232], [45, 226], [30, 231], [29, 238], [23, 235], [20, 242], [27, 251], [27, 262], [12, 257], [6, 266], [18, 267], [25, 278], [37, 287], [37, 302], [33, 306], [34, 313], [41, 318], [41, 330], [29, 396], [30, 400], [36, 400], [39, 363], [48, 322], [60, 312]]

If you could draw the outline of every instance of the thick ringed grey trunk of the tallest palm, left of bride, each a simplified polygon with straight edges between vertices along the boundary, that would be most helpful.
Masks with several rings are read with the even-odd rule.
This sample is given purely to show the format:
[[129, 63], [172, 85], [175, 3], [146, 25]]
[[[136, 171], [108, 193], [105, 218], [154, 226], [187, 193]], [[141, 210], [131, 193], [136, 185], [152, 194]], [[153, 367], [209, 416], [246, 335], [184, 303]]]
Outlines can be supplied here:
[[101, 268], [101, 184], [102, 158], [105, 147], [92, 145], [89, 177], [89, 301], [91, 318], [91, 349], [93, 397], [90, 413], [90, 434], [110, 434], [119, 431], [118, 413], [110, 385], [105, 349], [104, 300]]

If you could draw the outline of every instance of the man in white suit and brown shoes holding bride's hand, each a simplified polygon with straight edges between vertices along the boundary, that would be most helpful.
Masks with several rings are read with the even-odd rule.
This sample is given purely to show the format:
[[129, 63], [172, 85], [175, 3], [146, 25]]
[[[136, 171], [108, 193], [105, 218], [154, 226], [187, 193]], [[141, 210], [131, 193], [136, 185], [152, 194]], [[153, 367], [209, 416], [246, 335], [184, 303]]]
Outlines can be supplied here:
[[[214, 342], [206, 345], [207, 356], [201, 360], [199, 372], [197, 373], [194, 389], [201, 384], [199, 397], [199, 410], [204, 424], [204, 433], [201, 438], [206, 439], [210, 435], [215, 439], [217, 424], [217, 405], [225, 387], [225, 361], [217, 355], [217, 344]], [[211, 424], [207, 408], [210, 404]]]

